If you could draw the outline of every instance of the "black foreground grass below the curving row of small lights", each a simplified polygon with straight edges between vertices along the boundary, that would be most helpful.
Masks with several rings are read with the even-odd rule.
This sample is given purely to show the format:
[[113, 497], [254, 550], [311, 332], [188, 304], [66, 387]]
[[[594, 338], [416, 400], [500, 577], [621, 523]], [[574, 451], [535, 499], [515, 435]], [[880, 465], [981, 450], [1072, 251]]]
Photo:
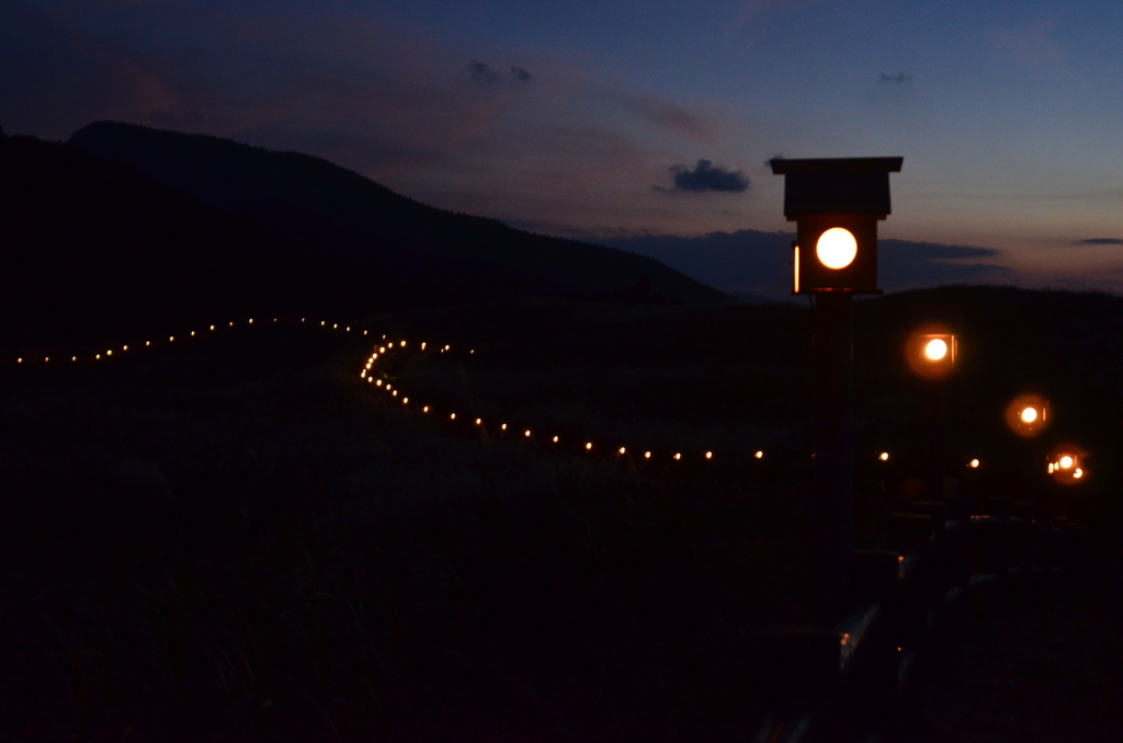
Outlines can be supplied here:
[[483, 446], [331, 338], [208, 343], [6, 379], [0, 737], [748, 734], [803, 498]]

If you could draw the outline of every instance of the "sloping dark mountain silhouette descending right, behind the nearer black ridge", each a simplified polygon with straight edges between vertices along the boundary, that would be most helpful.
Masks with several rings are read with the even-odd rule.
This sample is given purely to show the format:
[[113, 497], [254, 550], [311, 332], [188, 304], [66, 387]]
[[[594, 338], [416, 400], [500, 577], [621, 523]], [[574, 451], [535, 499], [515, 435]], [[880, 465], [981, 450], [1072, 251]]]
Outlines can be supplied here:
[[384, 304], [731, 301], [655, 259], [428, 207], [310, 155], [111, 121], [80, 129], [69, 144], [235, 213], [293, 251], [373, 272], [390, 285]]

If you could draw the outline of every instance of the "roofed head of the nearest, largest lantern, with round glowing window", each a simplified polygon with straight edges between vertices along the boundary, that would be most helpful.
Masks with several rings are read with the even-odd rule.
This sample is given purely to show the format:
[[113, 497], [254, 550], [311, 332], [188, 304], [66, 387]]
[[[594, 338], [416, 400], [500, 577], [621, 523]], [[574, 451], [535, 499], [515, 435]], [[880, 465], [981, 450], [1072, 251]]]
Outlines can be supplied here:
[[784, 215], [796, 222], [795, 294], [877, 288], [877, 222], [889, 213], [889, 173], [903, 157], [772, 160], [784, 175]]

